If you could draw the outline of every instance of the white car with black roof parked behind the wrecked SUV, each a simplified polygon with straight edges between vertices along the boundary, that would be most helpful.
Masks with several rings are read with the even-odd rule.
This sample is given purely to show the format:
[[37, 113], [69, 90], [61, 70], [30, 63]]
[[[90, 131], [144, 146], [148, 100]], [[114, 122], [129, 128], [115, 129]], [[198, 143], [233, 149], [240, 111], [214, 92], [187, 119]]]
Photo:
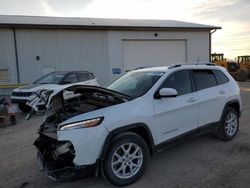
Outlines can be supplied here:
[[[99, 86], [97, 78], [88, 71], [56, 71], [48, 73], [30, 85], [16, 88], [12, 91], [11, 102], [17, 103], [23, 112], [29, 112], [31, 108], [26, 105], [31, 101], [38, 91], [65, 88], [74, 84]], [[65, 93], [65, 97], [70, 98], [70, 93]]]

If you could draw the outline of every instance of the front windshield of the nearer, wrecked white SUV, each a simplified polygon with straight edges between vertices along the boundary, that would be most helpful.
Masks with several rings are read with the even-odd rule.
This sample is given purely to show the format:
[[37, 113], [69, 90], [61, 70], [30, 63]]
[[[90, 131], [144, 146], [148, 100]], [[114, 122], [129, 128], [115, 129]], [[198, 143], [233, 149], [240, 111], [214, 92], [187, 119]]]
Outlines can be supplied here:
[[128, 72], [114, 80], [107, 89], [137, 98], [145, 93], [159, 80], [163, 72]]

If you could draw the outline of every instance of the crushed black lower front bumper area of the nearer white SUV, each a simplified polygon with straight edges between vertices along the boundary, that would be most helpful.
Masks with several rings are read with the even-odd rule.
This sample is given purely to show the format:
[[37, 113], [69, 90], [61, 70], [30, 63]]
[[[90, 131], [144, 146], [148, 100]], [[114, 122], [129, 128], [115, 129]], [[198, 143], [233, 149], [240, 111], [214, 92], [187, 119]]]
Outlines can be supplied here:
[[34, 145], [41, 170], [56, 181], [71, 181], [94, 174], [96, 164], [76, 166], [73, 163], [74, 148], [69, 141], [57, 141], [40, 135]]

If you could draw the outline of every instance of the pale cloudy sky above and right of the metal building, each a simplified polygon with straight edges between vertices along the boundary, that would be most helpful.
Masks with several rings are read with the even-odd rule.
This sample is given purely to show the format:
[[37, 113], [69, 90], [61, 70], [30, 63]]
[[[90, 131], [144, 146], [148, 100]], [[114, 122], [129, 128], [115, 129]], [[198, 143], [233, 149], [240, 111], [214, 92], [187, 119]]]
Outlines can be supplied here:
[[250, 55], [250, 0], [0, 0], [1, 15], [167, 19], [221, 26], [212, 52]]

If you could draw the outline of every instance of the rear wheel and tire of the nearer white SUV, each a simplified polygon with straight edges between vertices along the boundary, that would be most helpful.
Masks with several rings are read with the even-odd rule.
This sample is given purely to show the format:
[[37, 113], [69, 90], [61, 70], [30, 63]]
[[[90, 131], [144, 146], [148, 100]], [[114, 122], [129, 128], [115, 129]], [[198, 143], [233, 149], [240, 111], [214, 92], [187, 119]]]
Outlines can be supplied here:
[[224, 141], [232, 140], [239, 129], [239, 115], [234, 108], [227, 107], [217, 130], [217, 137]]

